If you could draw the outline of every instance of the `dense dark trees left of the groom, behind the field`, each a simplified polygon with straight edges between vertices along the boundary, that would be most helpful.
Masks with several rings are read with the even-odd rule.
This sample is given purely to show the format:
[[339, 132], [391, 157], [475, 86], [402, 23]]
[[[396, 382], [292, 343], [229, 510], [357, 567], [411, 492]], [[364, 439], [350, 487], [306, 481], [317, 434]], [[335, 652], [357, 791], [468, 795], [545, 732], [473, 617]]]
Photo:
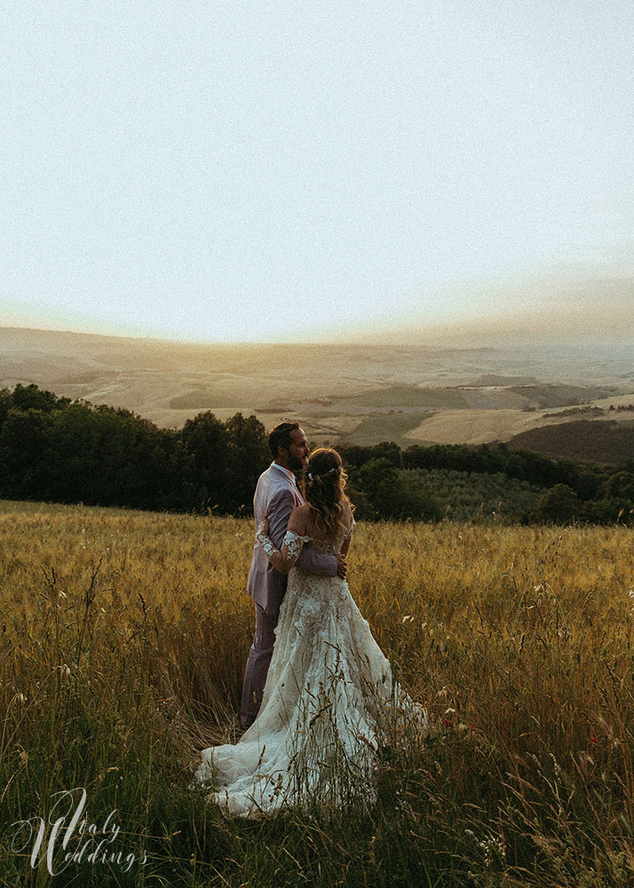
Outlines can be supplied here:
[[0, 495], [153, 511], [250, 511], [270, 462], [265, 427], [210, 412], [180, 430], [130, 410], [59, 398], [36, 385], [0, 392]]

